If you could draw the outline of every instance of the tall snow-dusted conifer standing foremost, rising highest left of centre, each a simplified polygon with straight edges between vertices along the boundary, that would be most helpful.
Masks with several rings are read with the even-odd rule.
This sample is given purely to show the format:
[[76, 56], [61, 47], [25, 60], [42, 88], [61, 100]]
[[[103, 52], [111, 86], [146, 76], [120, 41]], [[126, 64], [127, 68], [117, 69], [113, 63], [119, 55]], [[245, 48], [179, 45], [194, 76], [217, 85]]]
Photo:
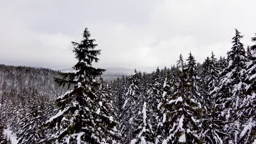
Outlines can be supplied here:
[[98, 62], [101, 51], [95, 50], [94, 41], [85, 28], [83, 40], [72, 42], [78, 61], [73, 67], [75, 72], [63, 73], [62, 79], [55, 78], [60, 85], [73, 88], [56, 99], [59, 112], [46, 122], [51, 128], [57, 128], [52, 143], [106, 143], [113, 133], [115, 120], [111, 121], [111, 115], [106, 113], [109, 121], [103, 122], [97, 112], [101, 100], [95, 94], [98, 87], [95, 79], [104, 69], [92, 67], [93, 62]]

